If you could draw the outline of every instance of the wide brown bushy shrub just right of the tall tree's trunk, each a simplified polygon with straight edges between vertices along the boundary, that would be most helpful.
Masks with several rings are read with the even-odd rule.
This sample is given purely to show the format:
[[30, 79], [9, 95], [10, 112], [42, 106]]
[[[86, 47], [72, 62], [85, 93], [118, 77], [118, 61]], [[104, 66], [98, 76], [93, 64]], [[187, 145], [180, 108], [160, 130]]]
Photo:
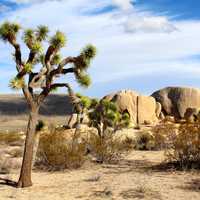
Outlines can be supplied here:
[[85, 142], [79, 141], [75, 132], [66, 138], [63, 132], [54, 131], [42, 134], [37, 153], [36, 166], [48, 170], [79, 168], [85, 161]]

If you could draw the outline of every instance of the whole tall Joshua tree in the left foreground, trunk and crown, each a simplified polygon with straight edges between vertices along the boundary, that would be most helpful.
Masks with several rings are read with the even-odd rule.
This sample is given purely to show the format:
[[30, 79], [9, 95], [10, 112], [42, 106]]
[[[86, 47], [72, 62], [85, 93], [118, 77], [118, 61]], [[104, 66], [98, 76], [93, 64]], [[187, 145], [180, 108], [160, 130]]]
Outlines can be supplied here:
[[[38, 26], [34, 30], [23, 31], [22, 39], [29, 50], [28, 58], [24, 60], [21, 55], [20, 44], [17, 42], [20, 30], [22, 30], [20, 25], [5, 22], [0, 26], [0, 38], [12, 45], [15, 50], [14, 60], [17, 74], [10, 81], [10, 86], [13, 89], [23, 91], [30, 108], [23, 162], [17, 183], [18, 187], [29, 187], [32, 185], [34, 135], [40, 105], [50, 92], [57, 88], [65, 87], [70, 95], [74, 96], [68, 82], [58, 83], [55, 81], [55, 78], [61, 75], [73, 74], [81, 86], [89, 86], [90, 77], [87, 74], [87, 68], [95, 57], [96, 49], [92, 45], [87, 45], [77, 57], [61, 59], [59, 52], [66, 44], [65, 35], [57, 31], [55, 35], [48, 38], [48, 27]], [[45, 41], [48, 42], [48, 48], [44, 52], [42, 47]], [[35, 66], [37, 66], [36, 69], [40, 66], [40, 70], [35, 72]]]

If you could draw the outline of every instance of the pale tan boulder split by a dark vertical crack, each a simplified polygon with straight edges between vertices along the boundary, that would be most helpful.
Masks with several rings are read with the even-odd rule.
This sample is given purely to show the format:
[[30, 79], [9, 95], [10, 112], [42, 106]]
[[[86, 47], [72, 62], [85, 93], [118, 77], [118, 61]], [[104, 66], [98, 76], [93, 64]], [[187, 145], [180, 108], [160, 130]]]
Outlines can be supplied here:
[[158, 121], [161, 105], [153, 97], [142, 96], [132, 90], [122, 90], [104, 97], [117, 104], [121, 112], [128, 112], [131, 124], [152, 124]]

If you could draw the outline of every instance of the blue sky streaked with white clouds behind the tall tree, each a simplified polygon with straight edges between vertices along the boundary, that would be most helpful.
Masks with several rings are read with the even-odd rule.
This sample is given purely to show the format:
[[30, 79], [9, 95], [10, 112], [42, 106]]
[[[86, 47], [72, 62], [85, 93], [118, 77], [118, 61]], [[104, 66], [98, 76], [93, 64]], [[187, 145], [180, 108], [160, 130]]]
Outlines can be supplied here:
[[[99, 97], [122, 89], [151, 94], [165, 86], [200, 87], [199, 9], [199, 0], [0, 0], [0, 23], [64, 31], [63, 57], [77, 55], [87, 43], [96, 45], [90, 88], [62, 78], [76, 91]], [[0, 93], [13, 92], [12, 52], [0, 43]]]

